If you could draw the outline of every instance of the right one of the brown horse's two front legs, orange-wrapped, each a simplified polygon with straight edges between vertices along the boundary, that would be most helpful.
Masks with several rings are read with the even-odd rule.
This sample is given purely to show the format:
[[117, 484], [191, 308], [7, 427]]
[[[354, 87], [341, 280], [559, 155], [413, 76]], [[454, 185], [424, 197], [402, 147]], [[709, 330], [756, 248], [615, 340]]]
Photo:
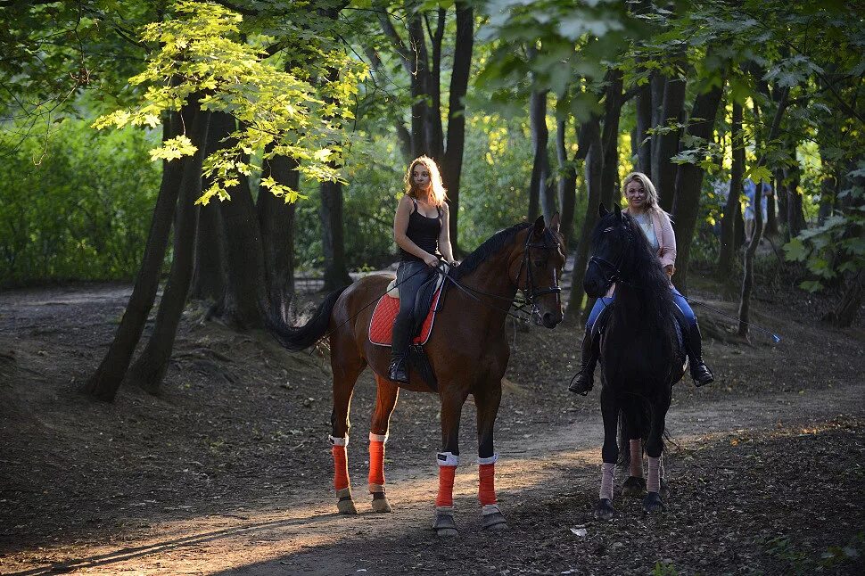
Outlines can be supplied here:
[[492, 443], [493, 427], [496, 424], [498, 405], [501, 403], [501, 380], [482, 390], [474, 391], [474, 404], [477, 407], [478, 427], [478, 501], [481, 503], [483, 530], [507, 530], [505, 516], [496, 502], [496, 460]]

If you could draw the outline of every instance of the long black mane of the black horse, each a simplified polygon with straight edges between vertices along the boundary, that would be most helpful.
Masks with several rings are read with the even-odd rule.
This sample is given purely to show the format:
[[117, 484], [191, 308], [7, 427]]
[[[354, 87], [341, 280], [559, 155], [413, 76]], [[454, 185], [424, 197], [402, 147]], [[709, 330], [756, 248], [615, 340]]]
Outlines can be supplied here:
[[[609, 218], [609, 219], [608, 219]], [[607, 226], [614, 226], [614, 213], [601, 218], [593, 233], [592, 243], [597, 245], [598, 238]], [[619, 234], [630, 237], [631, 250], [626, 251], [622, 259], [622, 276], [634, 286], [634, 292], [643, 304], [643, 317], [654, 324], [664, 335], [675, 339], [673, 333], [673, 303], [670, 282], [661, 267], [655, 251], [649, 245], [643, 229], [629, 214], [622, 212], [623, 228], [614, 226]], [[622, 240], [622, 242], [627, 242]]]

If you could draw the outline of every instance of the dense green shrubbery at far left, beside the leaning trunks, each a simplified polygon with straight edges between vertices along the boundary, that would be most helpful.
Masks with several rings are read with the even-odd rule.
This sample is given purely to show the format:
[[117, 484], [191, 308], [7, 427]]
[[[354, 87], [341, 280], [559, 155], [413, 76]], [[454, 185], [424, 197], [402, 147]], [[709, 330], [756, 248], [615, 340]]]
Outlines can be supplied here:
[[159, 188], [155, 135], [55, 124], [46, 142], [0, 132], [0, 285], [135, 276]]

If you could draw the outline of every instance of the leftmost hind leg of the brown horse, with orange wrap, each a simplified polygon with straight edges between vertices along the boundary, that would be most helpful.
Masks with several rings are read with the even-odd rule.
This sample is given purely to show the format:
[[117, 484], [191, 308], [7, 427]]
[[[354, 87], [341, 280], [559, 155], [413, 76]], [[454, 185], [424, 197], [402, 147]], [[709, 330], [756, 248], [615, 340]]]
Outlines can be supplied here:
[[350, 349], [345, 342], [342, 342], [341, 346], [334, 346], [334, 338], [331, 339], [331, 350], [331, 367], [334, 371], [334, 410], [331, 413], [330, 441], [334, 456], [334, 490], [338, 498], [336, 507], [340, 514], [358, 514], [358, 509], [351, 498], [349, 459], [345, 449], [349, 443], [351, 427], [349, 422], [351, 395], [354, 393], [355, 383], [358, 382], [358, 375], [367, 363], [360, 356], [346, 353], [344, 350]]

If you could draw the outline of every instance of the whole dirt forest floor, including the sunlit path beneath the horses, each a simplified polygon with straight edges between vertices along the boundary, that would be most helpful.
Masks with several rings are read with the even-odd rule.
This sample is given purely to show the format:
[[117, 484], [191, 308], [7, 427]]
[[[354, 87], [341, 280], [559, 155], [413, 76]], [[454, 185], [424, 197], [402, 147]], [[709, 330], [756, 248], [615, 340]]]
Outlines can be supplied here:
[[[691, 292], [735, 314], [711, 288]], [[335, 514], [330, 376], [317, 351], [202, 323], [193, 305], [160, 396], [125, 386], [105, 404], [80, 393], [128, 293], [79, 284], [0, 294], [0, 573], [865, 572], [865, 331], [861, 319], [844, 331], [815, 320], [826, 297], [758, 291], [754, 320], [778, 344], [724, 337], [731, 321], [696, 309], [715, 336], [704, 351], [717, 380], [674, 389], [667, 511], [646, 516], [638, 498], [617, 495], [609, 523], [591, 519], [599, 386], [586, 398], [566, 391], [582, 331], [516, 331], [496, 445], [510, 529], [480, 530], [470, 405], [460, 535], [438, 539], [433, 394], [401, 395], [386, 459], [394, 509], [374, 514], [375, 385], [362, 376], [349, 446], [360, 514]]]

